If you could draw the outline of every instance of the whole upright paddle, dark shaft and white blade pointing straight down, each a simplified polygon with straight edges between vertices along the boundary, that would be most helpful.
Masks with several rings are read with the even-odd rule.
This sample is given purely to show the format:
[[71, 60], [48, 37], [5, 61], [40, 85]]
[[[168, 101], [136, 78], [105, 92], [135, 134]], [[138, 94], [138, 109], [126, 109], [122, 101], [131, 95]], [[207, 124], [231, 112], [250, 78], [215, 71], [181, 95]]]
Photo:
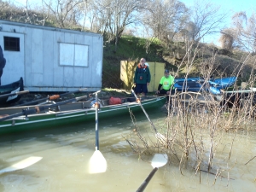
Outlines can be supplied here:
[[107, 161], [104, 158], [103, 154], [100, 152], [99, 149], [99, 130], [98, 130], [98, 109], [99, 109], [99, 103], [98, 103], [98, 96], [97, 93], [101, 90], [94, 93], [96, 95], [96, 102], [95, 102], [95, 118], [96, 118], [96, 151], [92, 154], [90, 157], [90, 173], [100, 173], [100, 172], [106, 172], [107, 171]]

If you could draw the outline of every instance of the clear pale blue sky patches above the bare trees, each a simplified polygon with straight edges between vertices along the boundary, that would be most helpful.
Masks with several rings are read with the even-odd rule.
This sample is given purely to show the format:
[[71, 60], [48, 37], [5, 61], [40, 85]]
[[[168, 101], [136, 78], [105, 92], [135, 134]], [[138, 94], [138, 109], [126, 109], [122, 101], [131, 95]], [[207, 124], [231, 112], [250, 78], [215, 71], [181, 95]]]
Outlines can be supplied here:
[[[9, 1], [9, 0], [7, 0]], [[25, 5], [26, 0], [10, 0], [11, 2], [14, 2], [17, 5]], [[190, 7], [193, 5], [194, 0], [180, 0], [181, 2], [185, 3], [187, 7]], [[207, 0], [203, 0], [204, 2], [207, 2]], [[41, 0], [28, 0], [29, 3], [41, 3]], [[248, 15], [251, 15], [253, 10], [256, 10], [256, 0], [208, 0], [208, 2], [212, 3], [215, 6], [220, 6], [220, 11], [227, 13], [228, 17], [226, 20], [224, 20], [224, 26], [230, 26], [231, 25], [231, 17], [236, 12], [240, 11], [246, 11]], [[206, 43], [213, 43], [218, 44], [218, 38], [219, 34], [207, 36], [203, 39]]]

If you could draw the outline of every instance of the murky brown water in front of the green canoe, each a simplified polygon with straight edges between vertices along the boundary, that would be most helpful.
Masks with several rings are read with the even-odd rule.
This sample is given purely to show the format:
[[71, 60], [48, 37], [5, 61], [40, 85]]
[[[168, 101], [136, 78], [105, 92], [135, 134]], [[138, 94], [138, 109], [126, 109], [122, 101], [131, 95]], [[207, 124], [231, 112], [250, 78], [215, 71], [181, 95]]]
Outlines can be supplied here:
[[[166, 115], [160, 110], [148, 114], [154, 122], [163, 121]], [[147, 130], [149, 124], [144, 114], [136, 118], [139, 127]], [[99, 120], [100, 151], [107, 160], [107, 172], [89, 173], [89, 160], [95, 151], [94, 123], [51, 127], [0, 137], [0, 169], [30, 156], [43, 157], [26, 169], [0, 175], [0, 191], [136, 191], [152, 166], [149, 160], [139, 160], [123, 138], [134, 129], [131, 119]], [[219, 148], [226, 153], [233, 137], [224, 137]], [[178, 164], [171, 162], [155, 173], [145, 191], [256, 191], [256, 133], [237, 134], [233, 149], [232, 160], [225, 165], [230, 171], [218, 177], [215, 184], [214, 175], [201, 172], [200, 183], [192, 166], [183, 167], [181, 174]], [[217, 165], [223, 167], [221, 158], [226, 155], [218, 155]], [[245, 165], [248, 160], [251, 161]]]

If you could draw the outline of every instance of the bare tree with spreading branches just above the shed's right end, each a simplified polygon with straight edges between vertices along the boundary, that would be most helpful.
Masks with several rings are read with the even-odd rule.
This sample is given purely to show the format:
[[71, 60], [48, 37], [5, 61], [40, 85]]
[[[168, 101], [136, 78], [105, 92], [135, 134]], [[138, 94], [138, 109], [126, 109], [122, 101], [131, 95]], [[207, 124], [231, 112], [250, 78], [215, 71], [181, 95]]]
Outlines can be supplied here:
[[119, 38], [125, 28], [137, 22], [137, 10], [142, 7], [140, 0], [96, 0], [90, 2], [90, 29], [102, 32], [113, 41], [117, 49]]

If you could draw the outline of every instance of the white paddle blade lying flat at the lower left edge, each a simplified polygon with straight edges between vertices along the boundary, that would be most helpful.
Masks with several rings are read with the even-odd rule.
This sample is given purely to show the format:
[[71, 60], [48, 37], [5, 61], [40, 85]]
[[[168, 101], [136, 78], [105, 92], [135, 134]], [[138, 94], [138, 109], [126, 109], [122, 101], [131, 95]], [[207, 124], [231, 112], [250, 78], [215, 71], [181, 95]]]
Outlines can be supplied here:
[[16, 163], [13, 166], [6, 167], [0, 170], [0, 174], [4, 172], [15, 172], [20, 169], [24, 169], [27, 166], [32, 166], [33, 164], [37, 163], [39, 160], [42, 160], [43, 157], [28, 157], [25, 160], [21, 160], [20, 162]]

